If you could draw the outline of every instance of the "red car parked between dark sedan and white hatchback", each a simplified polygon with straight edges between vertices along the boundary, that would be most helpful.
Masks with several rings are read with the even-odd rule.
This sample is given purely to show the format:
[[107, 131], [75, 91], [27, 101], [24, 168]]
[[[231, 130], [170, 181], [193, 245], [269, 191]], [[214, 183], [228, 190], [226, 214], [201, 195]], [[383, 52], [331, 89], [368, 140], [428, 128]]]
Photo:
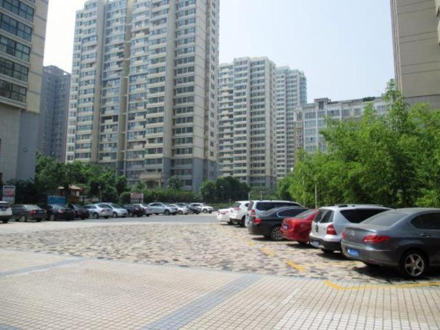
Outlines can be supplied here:
[[311, 221], [314, 221], [316, 214], [318, 214], [318, 210], [308, 210], [294, 218], [284, 219], [281, 223], [281, 236], [289, 241], [307, 244], [311, 231]]

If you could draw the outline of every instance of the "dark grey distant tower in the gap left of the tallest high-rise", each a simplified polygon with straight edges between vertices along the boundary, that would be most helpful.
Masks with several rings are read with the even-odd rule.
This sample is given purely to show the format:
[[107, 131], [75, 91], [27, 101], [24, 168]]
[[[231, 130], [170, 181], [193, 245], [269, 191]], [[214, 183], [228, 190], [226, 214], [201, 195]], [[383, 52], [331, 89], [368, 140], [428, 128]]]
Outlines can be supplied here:
[[38, 149], [65, 161], [70, 74], [53, 65], [44, 67], [41, 85]]

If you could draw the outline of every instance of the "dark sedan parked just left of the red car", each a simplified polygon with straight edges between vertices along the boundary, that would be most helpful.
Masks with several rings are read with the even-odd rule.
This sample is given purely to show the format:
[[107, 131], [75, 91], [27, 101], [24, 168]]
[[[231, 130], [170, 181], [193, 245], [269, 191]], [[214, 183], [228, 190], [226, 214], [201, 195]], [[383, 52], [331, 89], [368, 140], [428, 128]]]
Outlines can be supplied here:
[[298, 206], [283, 206], [282, 208], [272, 208], [253, 217], [252, 222], [248, 224], [248, 232], [252, 235], [262, 235], [273, 241], [281, 241], [281, 223], [287, 217], [296, 215], [308, 210]]

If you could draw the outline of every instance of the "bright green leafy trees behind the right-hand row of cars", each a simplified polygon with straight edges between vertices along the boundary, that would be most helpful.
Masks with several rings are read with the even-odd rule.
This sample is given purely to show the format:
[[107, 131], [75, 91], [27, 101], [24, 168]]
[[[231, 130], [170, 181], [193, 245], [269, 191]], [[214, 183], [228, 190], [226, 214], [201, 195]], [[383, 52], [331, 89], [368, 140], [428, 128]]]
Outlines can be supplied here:
[[294, 172], [278, 182], [278, 196], [314, 205], [377, 203], [395, 208], [440, 206], [440, 111], [409, 107], [395, 88], [388, 114], [373, 104], [360, 120], [327, 122], [327, 153], [297, 155]]

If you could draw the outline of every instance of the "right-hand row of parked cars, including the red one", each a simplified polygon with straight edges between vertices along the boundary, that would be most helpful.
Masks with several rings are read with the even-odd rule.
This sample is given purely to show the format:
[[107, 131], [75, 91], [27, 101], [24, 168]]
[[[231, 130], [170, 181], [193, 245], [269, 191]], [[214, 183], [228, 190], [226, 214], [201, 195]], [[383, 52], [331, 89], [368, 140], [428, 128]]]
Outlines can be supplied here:
[[220, 221], [275, 241], [341, 252], [370, 267], [394, 267], [419, 278], [440, 266], [440, 209], [336, 205], [317, 210], [292, 201], [238, 201], [219, 210]]

